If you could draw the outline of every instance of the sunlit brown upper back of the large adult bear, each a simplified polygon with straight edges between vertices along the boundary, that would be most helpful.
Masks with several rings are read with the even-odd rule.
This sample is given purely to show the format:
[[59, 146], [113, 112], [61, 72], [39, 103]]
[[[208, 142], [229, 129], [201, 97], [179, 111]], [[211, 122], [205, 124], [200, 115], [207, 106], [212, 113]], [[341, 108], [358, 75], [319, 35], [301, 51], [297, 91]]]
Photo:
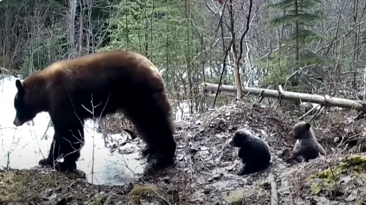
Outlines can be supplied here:
[[32, 78], [44, 78], [50, 84], [104, 84], [105, 82], [125, 83], [126, 86], [163, 86], [158, 69], [143, 55], [129, 51], [107, 51], [79, 58], [52, 63], [38, 71]]

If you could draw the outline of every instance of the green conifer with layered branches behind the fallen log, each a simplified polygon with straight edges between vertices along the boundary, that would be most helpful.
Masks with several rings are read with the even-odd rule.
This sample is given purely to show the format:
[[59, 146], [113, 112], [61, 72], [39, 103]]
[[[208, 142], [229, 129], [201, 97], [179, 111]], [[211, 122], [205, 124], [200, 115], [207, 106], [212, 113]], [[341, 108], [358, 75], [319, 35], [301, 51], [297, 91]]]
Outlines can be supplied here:
[[[297, 7], [295, 7], [297, 3]], [[314, 40], [322, 40], [323, 37], [308, 28], [317, 24], [317, 21], [324, 18], [318, 11], [311, 9], [318, 3], [317, 0], [280, 0], [276, 3], [269, 3], [265, 8], [279, 10], [281, 16], [269, 18], [266, 24], [269, 28], [284, 26], [291, 31], [281, 41], [281, 53], [276, 50], [268, 58], [259, 59], [257, 64], [261, 67], [269, 67], [265, 79], [270, 84], [282, 84], [288, 75], [305, 65], [331, 65], [330, 59], [313, 53], [307, 47]], [[285, 14], [283, 14], [285, 11]]]

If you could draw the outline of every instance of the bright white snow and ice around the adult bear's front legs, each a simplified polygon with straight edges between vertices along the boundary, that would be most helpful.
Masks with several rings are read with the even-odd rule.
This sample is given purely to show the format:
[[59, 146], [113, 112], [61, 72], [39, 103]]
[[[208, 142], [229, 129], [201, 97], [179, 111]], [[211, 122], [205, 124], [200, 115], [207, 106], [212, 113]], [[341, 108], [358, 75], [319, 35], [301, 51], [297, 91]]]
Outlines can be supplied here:
[[[30, 169], [38, 166], [38, 161], [47, 156], [52, 142], [52, 127], [42, 139], [50, 119], [48, 113], [39, 113], [34, 118], [34, 126], [30, 126], [29, 123], [30, 125], [24, 124], [15, 128], [12, 124], [15, 116], [15, 80], [14, 77], [0, 80], [0, 169], [7, 165], [12, 169]], [[84, 171], [88, 182], [91, 183], [93, 167], [93, 183], [100, 185], [123, 185], [138, 179], [135, 174], [143, 173], [145, 163], [143, 159], [139, 159], [139, 148], [133, 144], [126, 144], [121, 149], [127, 148], [134, 152], [111, 153], [109, 148], [104, 146], [102, 134], [93, 131], [93, 125], [92, 120], [85, 122], [85, 146], [77, 162], [78, 170]], [[118, 139], [121, 136], [112, 135], [112, 138]]]

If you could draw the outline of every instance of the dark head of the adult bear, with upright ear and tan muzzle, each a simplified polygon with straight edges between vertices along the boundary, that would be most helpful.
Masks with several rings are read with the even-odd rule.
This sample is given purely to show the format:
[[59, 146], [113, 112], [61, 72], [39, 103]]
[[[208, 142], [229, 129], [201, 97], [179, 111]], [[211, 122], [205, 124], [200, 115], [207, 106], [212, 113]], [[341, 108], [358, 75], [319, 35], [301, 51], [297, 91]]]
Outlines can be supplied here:
[[26, 93], [24, 85], [20, 80], [15, 81], [16, 89], [18, 92], [15, 94], [14, 98], [14, 108], [16, 111], [15, 119], [13, 124], [18, 127], [23, 125], [29, 120], [32, 120], [36, 117], [37, 113], [34, 111], [32, 106], [29, 104], [29, 100], [26, 99], [26, 96], [30, 96], [30, 93]]

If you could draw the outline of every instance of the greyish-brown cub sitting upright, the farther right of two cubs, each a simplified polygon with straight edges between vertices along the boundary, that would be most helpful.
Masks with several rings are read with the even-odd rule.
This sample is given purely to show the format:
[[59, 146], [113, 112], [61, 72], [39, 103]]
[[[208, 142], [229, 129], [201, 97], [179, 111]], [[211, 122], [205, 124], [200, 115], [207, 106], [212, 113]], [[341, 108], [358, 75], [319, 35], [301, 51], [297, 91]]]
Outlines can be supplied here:
[[297, 160], [298, 162], [301, 158], [305, 162], [310, 159], [315, 159], [319, 154], [325, 155], [325, 151], [320, 143], [314, 136], [313, 129], [311, 125], [307, 122], [300, 121], [294, 125], [290, 135], [296, 139], [294, 150], [291, 155], [287, 158], [287, 162], [292, 160]]

